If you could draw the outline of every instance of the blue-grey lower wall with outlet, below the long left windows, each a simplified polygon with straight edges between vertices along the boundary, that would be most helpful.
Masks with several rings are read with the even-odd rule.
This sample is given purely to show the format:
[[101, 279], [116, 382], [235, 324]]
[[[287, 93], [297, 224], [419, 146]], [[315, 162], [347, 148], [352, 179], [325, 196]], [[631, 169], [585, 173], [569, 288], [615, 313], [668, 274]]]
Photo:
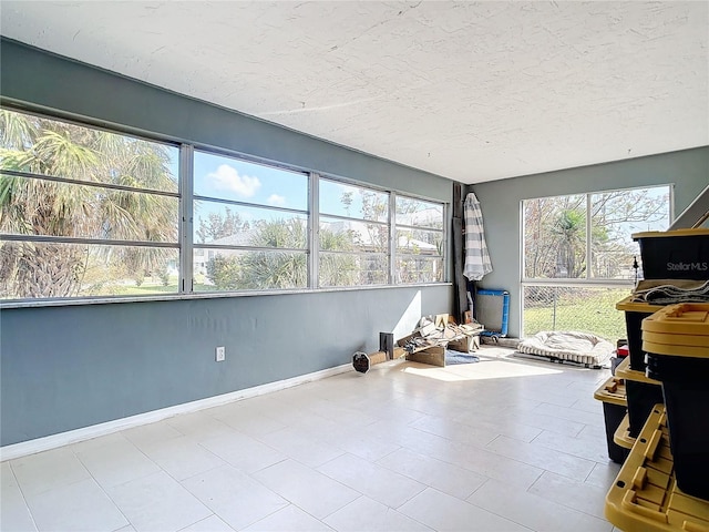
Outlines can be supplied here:
[[440, 286], [3, 309], [2, 444], [349, 364], [451, 297]]

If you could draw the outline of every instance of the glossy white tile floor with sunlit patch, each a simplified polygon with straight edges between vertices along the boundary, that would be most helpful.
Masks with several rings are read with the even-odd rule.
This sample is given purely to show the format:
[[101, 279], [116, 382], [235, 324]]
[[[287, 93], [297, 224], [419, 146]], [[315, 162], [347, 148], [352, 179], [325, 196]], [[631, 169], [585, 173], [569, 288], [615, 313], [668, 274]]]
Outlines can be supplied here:
[[1, 464], [14, 531], [606, 531], [594, 390], [512, 357], [387, 362]]

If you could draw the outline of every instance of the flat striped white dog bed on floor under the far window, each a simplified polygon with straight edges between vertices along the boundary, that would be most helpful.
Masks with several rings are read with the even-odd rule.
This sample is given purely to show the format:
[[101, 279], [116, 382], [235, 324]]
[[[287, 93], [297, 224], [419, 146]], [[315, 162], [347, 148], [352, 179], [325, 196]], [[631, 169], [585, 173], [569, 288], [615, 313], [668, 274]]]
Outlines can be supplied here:
[[614, 349], [614, 345], [604, 338], [575, 330], [543, 330], [517, 346], [517, 350], [526, 355], [597, 368], [608, 364]]

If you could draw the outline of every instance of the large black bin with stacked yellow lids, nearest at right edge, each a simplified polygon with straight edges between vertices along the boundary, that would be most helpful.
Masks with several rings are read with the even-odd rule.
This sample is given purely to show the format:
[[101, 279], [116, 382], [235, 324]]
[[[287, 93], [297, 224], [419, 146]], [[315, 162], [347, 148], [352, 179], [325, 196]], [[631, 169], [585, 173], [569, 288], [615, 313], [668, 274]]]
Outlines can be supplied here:
[[643, 320], [649, 377], [662, 382], [677, 483], [709, 499], [709, 304], [669, 305]]

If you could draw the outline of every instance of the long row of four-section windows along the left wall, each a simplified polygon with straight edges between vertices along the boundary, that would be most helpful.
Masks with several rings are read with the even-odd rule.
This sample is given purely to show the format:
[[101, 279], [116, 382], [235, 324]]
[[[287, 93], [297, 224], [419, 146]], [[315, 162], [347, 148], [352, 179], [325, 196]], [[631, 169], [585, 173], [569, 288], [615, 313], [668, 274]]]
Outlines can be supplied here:
[[444, 205], [0, 110], [0, 299], [444, 282]]

